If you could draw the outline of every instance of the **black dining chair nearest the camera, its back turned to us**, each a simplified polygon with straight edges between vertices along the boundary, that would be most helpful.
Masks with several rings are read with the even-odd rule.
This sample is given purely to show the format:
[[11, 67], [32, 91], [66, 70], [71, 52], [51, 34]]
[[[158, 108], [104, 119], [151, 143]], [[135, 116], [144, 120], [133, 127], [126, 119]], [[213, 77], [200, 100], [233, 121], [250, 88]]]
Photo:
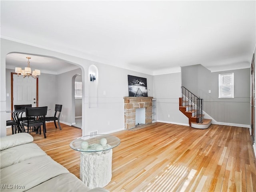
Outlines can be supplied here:
[[[22, 121], [22, 131], [26, 132], [25, 126], [28, 128], [29, 132], [30, 127], [36, 133], [41, 134], [41, 127], [43, 126], [44, 138], [46, 138], [46, 126], [45, 126], [45, 116], [47, 114], [47, 106], [45, 107], [26, 107], [26, 121]], [[31, 117], [35, 119], [30, 119]]]

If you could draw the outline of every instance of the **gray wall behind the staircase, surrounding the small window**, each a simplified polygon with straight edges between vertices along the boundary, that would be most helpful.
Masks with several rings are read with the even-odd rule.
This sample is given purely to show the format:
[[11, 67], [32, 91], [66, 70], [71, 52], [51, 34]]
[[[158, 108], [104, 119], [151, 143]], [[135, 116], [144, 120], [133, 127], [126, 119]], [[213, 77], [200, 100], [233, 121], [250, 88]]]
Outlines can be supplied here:
[[[202, 65], [181, 68], [182, 86], [204, 99], [204, 111], [219, 123], [250, 125], [250, 68], [210, 72]], [[218, 98], [218, 74], [234, 72], [234, 98]], [[211, 90], [211, 93], [209, 93]]]

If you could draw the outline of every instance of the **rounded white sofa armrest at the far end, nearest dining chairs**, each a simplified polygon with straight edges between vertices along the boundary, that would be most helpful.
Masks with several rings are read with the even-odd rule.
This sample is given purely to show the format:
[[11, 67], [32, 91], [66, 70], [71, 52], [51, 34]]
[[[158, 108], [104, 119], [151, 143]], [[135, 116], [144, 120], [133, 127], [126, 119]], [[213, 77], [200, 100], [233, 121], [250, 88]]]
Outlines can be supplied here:
[[2, 137], [0, 140], [0, 150], [5, 150], [17, 145], [33, 142], [34, 138], [28, 133], [17, 133]]

